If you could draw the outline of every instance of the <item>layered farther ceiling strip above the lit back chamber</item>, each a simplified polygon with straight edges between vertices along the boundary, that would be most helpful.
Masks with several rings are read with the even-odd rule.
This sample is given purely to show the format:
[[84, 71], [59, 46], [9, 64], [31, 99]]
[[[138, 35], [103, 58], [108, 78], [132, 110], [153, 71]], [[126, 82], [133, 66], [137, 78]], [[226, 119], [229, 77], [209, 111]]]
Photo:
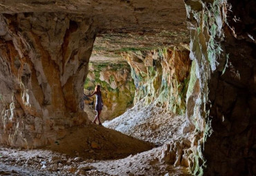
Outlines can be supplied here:
[[189, 43], [190, 32], [187, 28], [168, 30], [104, 33], [97, 35], [93, 45], [92, 57], [111, 57], [118, 59], [122, 52], [157, 50]]

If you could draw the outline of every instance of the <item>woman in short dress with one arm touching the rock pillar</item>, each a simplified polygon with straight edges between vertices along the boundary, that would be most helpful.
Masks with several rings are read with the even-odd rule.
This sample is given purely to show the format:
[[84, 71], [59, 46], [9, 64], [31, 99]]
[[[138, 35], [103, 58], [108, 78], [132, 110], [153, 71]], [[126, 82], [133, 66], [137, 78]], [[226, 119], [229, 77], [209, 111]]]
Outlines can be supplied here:
[[102, 124], [100, 122], [100, 113], [103, 108], [103, 101], [102, 101], [102, 95], [101, 95], [101, 91], [100, 91], [100, 85], [95, 86], [95, 90], [92, 95], [85, 95], [85, 96], [92, 97], [93, 95], [96, 95], [95, 110], [97, 111], [97, 115], [95, 116], [93, 123], [96, 124], [96, 120], [98, 119], [99, 125], [101, 126]]

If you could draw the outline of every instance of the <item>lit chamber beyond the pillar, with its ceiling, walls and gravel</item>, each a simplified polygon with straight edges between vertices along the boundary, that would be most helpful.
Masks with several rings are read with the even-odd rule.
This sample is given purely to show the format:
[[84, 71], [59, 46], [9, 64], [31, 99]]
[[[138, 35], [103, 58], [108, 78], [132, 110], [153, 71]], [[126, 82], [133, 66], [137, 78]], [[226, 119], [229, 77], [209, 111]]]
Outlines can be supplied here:
[[[102, 86], [103, 125], [156, 145], [177, 136], [185, 122], [188, 41], [185, 29], [98, 35], [84, 92]], [[96, 115], [93, 103], [93, 97], [85, 100], [91, 121]]]

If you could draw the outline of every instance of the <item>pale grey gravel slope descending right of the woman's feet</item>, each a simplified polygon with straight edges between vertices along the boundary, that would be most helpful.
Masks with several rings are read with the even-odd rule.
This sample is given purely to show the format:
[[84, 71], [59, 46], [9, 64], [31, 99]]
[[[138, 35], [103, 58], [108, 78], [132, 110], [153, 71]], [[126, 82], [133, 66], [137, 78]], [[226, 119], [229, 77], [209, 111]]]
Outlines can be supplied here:
[[174, 116], [156, 104], [144, 106], [143, 102], [138, 102], [123, 115], [105, 121], [103, 126], [161, 146], [183, 137], [181, 128], [184, 123], [183, 116]]

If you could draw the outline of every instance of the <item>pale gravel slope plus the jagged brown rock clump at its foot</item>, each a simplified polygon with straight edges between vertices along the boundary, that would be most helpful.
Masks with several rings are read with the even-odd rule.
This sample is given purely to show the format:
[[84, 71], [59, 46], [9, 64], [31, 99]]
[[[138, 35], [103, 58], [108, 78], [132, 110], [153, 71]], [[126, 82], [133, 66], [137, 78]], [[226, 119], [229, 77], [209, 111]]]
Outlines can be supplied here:
[[190, 155], [196, 150], [194, 141], [197, 142], [199, 137], [193, 133], [183, 133], [183, 126], [186, 125], [183, 116], [170, 115], [154, 104], [143, 106], [143, 102], [138, 102], [120, 117], [105, 121], [103, 125], [163, 146], [156, 155], [158, 162], [176, 167], [192, 166]]

